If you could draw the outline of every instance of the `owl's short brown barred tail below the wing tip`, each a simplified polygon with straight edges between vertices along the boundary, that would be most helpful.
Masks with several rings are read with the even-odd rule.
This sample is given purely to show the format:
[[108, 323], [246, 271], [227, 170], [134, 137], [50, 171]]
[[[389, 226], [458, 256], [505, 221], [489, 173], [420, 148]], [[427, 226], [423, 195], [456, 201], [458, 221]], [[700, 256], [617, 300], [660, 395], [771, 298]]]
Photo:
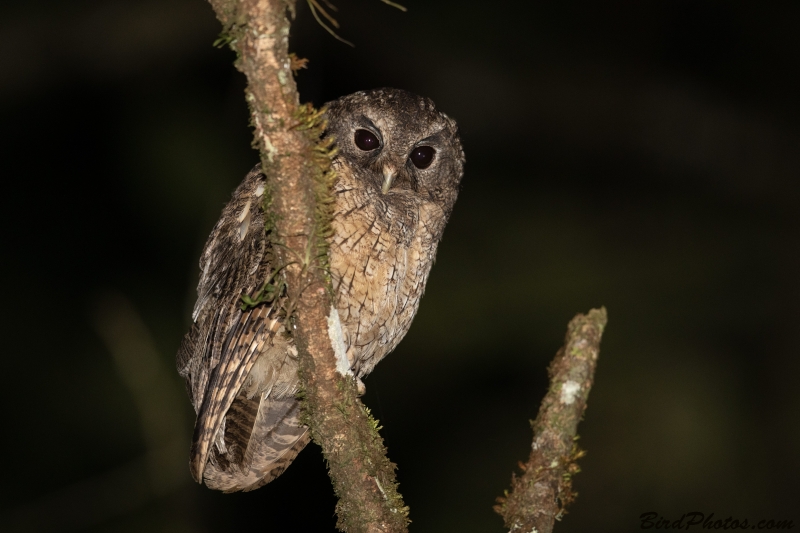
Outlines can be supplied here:
[[250, 491], [281, 475], [311, 438], [299, 414], [300, 402], [293, 395], [238, 395], [209, 454], [206, 485], [223, 492]]

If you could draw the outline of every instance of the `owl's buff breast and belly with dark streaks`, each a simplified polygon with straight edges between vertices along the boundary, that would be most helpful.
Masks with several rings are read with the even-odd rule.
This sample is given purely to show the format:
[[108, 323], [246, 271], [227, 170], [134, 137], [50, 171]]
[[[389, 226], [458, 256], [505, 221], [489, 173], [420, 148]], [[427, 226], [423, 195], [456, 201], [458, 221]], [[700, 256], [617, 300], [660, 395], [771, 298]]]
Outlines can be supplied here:
[[424, 210], [414, 202], [387, 204], [357, 192], [337, 197], [330, 259], [347, 355], [363, 376], [408, 331], [436, 239], [425, 231]]

